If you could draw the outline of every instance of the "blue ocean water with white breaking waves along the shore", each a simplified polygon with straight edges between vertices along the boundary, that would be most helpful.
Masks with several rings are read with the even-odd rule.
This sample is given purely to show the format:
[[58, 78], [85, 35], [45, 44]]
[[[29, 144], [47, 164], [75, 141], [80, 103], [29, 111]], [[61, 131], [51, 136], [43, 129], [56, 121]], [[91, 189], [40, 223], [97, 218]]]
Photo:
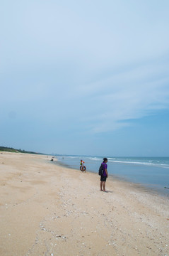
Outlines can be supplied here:
[[[98, 173], [100, 156], [57, 156], [58, 164], [79, 169], [85, 161], [86, 171]], [[169, 196], [169, 157], [107, 157], [109, 175], [139, 183]], [[166, 188], [165, 188], [166, 187]]]

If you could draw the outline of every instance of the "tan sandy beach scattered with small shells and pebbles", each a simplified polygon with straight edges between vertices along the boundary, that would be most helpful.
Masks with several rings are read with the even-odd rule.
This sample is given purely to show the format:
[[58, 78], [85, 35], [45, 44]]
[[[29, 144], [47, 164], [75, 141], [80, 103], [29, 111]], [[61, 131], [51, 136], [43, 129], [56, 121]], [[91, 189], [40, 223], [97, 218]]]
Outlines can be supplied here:
[[169, 200], [133, 183], [0, 152], [1, 256], [169, 255]]

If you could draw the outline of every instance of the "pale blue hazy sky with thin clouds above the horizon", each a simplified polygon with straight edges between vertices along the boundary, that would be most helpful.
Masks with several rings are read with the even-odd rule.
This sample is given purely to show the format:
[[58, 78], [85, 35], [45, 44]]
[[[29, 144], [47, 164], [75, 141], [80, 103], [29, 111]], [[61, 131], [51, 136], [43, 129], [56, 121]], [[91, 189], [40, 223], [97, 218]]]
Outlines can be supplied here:
[[169, 156], [169, 1], [0, 2], [0, 145]]

